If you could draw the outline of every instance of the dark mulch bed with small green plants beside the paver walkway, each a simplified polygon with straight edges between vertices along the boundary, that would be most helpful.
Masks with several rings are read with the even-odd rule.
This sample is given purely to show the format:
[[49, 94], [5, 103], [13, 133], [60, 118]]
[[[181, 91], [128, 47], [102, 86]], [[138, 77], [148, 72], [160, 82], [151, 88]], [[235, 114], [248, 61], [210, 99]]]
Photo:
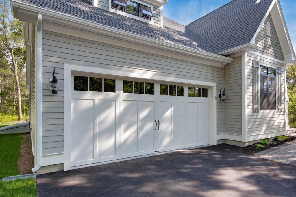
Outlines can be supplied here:
[[293, 141], [293, 140], [296, 140], [296, 137], [294, 136], [289, 136], [290, 138], [289, 139], [286, 139], [284, 141], [278, 141], [276, 138], [273, 139], [273, 141], [277, 141], [276, 144], [268, 144], [268, 145], [265, 145], [265, 144], [261, 144], [260, 142], [257, 142], [255, 144], [261, 144], [263, 145], [263, 148], [257, 148], [255, 144], [252, 144], [252, 145], [249, 145], [249, 146], [246, 146], [242, 149], [242, 152], [244, 154], [250, 154], [250, 155], [253, 155], [255, 153], [258, 153], [258, 152], [261, 152], [261, 151], [264, 151], [264, 150], [267, 150], [267, 149], [270, 149], [272, 147], [275, 147], [275, 146], [279, 146], [281, 144], [284, 144], [286, 142], [289, 142], [289, 141]]

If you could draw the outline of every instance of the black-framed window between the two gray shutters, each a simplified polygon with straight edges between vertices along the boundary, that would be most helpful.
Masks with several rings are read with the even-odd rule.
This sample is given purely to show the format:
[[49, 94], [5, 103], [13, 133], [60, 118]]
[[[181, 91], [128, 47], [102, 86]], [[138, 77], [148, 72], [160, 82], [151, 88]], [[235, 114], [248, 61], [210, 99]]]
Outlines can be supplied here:
[[260, 109], [276, 109], [276, 69], [260, 66]]

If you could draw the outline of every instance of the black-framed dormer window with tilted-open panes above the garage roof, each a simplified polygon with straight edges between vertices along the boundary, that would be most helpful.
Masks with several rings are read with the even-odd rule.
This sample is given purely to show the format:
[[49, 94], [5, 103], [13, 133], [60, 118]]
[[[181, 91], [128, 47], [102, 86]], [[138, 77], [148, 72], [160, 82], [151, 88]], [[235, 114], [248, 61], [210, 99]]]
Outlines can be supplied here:
[[[152, 7], [130, 0], [112, 0], [111, 8], [152, 22]], [[119, 13], [119, 12], [118, 12]]]

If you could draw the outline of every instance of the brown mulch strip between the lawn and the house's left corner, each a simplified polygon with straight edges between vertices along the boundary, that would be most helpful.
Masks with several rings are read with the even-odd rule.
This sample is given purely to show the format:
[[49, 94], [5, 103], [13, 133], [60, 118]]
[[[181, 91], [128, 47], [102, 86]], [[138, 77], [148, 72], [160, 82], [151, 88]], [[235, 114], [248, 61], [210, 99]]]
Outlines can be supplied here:
[[30, 133], [25, 133], [23, 135], [20, 154], [21, 157], [18, 160], [20, 175], [33, 173], [31, 169], [34, 167], [34, 158], [30, 141]]

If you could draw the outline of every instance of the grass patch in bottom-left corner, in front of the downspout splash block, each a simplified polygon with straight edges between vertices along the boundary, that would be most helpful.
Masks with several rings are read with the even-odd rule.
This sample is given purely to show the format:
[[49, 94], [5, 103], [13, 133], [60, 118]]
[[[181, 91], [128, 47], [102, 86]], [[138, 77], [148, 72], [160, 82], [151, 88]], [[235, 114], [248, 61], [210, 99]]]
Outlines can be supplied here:
[[0, 181], [0, 196], [35, 197], [37, 196], [36, 180], [33, 178], [29, 178], [29, 179], [18, 179], [15, 181], [8, 181], [8, 182]]

